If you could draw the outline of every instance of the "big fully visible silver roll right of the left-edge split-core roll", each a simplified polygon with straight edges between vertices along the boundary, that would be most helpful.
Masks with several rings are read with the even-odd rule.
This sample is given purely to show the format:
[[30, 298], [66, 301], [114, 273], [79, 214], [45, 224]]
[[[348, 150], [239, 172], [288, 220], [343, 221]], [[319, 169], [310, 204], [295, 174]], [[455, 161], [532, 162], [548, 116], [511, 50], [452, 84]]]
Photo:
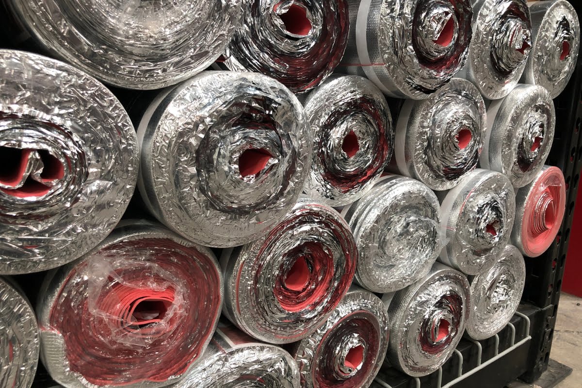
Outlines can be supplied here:
[[145, 205], [210, 247], [249, 243], [281, 221], [311, 162], [303, 107], [262, 74], [203, 72], [161, 92], [138, 137]]

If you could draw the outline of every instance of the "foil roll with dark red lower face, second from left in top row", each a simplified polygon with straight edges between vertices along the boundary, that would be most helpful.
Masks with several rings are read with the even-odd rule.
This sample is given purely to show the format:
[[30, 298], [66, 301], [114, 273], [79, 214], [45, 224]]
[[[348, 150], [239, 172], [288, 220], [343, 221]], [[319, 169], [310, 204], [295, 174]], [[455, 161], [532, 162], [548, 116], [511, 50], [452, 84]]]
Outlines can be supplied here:
[[242, 0], [225, 65], [268, 74], [293, 92], [318, 86], [346, 49], [345, 0]]

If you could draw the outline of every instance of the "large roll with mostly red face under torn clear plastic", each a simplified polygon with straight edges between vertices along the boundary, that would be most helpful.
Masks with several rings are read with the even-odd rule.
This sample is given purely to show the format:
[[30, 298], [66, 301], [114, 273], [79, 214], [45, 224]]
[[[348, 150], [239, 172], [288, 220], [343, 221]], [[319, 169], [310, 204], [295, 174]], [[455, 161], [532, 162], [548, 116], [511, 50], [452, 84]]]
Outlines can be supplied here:
[[214, 333], [222, 286], [208, 248], [161, 226], [122, 224], [47, 275], [37, 305], [42, 362], [67, 388], [176, 382]]

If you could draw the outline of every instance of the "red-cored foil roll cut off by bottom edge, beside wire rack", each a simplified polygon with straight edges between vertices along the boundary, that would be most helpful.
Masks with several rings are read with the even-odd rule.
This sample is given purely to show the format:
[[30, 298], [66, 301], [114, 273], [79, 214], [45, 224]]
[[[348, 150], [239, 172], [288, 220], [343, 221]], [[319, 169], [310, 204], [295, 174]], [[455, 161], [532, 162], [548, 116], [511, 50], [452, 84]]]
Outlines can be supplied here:
[[303, 388], [367, 388], [384, 362], [389, 338], [386, 306], [353, 286], [321, 328], [293, 344]]

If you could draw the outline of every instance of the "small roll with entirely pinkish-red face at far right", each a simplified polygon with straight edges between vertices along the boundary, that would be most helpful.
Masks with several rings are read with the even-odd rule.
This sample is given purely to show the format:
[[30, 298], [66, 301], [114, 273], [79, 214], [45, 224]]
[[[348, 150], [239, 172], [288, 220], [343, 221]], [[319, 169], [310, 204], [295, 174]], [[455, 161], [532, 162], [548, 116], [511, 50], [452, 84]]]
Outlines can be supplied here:
[[533, 182], [517, 190], [512, 244], [527, 257], [538, 257], [556, 239], [566, 209], [562, 170], [544, 166]]

